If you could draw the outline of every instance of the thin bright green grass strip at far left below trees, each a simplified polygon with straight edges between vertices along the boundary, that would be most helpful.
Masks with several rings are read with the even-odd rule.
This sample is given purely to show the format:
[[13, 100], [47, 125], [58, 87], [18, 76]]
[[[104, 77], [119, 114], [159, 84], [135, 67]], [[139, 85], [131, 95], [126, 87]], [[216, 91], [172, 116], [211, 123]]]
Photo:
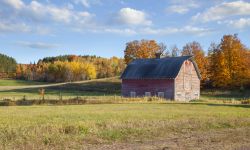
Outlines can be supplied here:
[[25, 86], [25, 85], [41, 85], [46, 84], [46, 82], [35, 82], [26, 80], [0, 80], [0, 86]]

